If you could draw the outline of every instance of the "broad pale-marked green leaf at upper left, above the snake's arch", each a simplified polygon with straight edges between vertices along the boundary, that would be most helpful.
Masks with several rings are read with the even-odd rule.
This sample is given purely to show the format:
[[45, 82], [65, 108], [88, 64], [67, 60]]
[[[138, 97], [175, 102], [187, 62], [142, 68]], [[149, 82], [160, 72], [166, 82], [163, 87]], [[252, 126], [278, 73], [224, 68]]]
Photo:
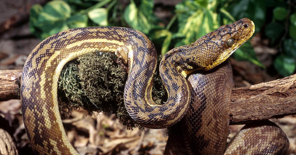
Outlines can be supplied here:
[[35, 23], [36, 27], [42, 30], [41, 39], [69, 29], [66, 20], [70, 15], [71, 8], [65, 1], [54, 0], [48, 2]]

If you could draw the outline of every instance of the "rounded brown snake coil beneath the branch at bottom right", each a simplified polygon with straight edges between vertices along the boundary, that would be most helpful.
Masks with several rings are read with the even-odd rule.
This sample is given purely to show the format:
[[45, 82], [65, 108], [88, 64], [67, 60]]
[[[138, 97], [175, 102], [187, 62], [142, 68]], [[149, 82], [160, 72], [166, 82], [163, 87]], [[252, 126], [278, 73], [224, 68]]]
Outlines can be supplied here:
[[229, 143], [224, 154], [286, 154], [289, 140], [271, 121], [245, 125]]

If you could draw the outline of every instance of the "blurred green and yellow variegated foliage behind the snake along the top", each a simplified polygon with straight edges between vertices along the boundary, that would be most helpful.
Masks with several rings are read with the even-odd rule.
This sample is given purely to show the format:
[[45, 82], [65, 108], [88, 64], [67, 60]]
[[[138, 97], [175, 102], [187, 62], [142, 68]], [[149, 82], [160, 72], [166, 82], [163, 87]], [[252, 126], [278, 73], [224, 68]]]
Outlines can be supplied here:
[[[190, 44], [221, 25], [248, 17], [255, 23], [255, 35], [270, 39], [279, 50], [274, 68], [289, 76], [296, 67], [296, 2], [284, 0], [184, 0], [177, 4], [169, 22], [154, 13], [153, 0], [52, 0], [35, 4], [30, 11], [30, 31], [40, 39], [87, 26], [123, 26], [147, 34], [164, 55], [173, 47]], [[250, 41], [234, 52], [262, 68]]]

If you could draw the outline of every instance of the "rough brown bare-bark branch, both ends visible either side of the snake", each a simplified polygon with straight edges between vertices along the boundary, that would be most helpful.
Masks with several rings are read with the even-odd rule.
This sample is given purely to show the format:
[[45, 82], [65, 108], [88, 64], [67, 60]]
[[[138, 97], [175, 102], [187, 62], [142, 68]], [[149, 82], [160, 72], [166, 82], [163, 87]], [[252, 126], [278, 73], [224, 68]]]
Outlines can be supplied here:
[[[0, 71], [0, 101], [20, 99], [22, 70]], [[270, 82], [232, 89], [230, 124], [296, 114], [296, 74]]]

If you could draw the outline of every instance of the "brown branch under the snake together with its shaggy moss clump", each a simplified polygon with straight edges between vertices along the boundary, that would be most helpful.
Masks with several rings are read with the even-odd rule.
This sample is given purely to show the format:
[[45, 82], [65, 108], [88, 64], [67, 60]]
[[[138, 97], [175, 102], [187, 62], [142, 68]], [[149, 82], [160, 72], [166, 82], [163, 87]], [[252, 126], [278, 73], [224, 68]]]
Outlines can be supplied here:
[[[59, 79], [59, 107], [62, 116], [78, 107], [92, 111], [112, 111], [123, 124], [135, 127], [123, 104], [127, 73], [113, 54], [97, 52], [68, 63]], [[156, 73], [157, 74], [157, 73]], [[21, 70], [0, 71], [0, 100], [19, 99]], [[153, 99], [166, 100], [161, 80], [156, 76]], [[296, 74], [283, 79], [232, 89], [230, 124], [279, 118], [296, 114]]]

